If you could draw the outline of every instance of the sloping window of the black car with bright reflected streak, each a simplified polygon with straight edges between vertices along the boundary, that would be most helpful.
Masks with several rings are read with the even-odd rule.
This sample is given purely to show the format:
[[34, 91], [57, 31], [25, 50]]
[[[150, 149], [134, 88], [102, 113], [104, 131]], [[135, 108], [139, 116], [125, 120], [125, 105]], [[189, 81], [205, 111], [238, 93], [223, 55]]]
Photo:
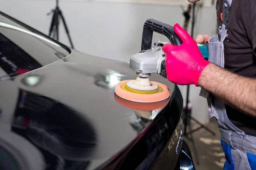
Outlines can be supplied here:
[[49, 65], [69, 54], [64, 45], [0, 13], [0, 80]]

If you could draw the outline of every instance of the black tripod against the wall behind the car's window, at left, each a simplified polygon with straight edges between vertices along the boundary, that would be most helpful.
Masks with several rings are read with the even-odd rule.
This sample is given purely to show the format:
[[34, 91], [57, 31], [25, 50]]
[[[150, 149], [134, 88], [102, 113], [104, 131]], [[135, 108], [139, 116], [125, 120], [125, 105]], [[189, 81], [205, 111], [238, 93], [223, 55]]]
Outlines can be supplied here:
[[74, 48], [73, 43], [72, 43], [71, 38], [70, 38], [69, 31], [67, 29], [66, 22], [65, 22], [64, 17], [63, 17], [63, 14], [62, 14], [60, 8], [58, 7], [58, 0], [56, 0], [56, 8], [53, 9], [51, 12], [49, 12], [47, 15], [50, 15], [52, 13], [53, 13], [53, 15], [52, 15], [51, 26], [50, 26], [50, 29], [49, 29], [49, 36], [51, 37], [51, 35], [52, 35], [52, 38], [54, 38], [55, 40], [58, 41], [58, 37], [59, 37], [59, 35], [58, 35], [58, 32], [59, 32], [58, 31], [58, 26], [59, 26], [59, 19], [61, 19], [64, 23], [64, 28], [66, 30], [67, 37], [70, 41], [70, 45], [71, 45], [72, 48]]

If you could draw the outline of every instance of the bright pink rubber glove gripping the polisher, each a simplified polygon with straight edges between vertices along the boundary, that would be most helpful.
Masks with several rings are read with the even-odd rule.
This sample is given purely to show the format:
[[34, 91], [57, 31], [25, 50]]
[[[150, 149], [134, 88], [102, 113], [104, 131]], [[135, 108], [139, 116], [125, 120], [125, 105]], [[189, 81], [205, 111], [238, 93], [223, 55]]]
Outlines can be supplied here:
[[175, 33], [182, 40], [181, 45], [165, 44], [167, 79], [178, 85], [198, 86], [201, 71], [209, 64], [199, 51], [195, 40], [177, 23], [173, 26]]

